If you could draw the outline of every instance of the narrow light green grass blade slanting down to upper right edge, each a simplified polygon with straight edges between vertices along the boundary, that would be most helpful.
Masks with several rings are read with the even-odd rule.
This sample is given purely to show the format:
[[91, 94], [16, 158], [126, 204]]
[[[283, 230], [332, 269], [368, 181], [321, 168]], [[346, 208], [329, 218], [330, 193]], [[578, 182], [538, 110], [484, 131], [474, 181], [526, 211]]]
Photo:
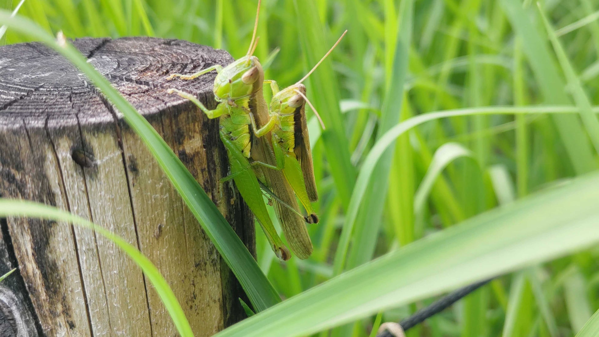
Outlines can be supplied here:
[[582, 117], [582, 122], [586, 126], [588, 130], [588, 134], [591, 137], [591, 142], [595, 146], [595, 151], [599, 152], [599, 120], [597, 120], [597, 116], [595, 116], [591, 111], [591, 101], [586, 96], [585, 89], [583, 89], [582, 84], [580, 84], [579, 78], [576, 76], [574, 72], [574, 68], [568, 60], [568, 56], [565, 54], [564, 47], [562, 47], [561, 43], [558, 40], [558, 37], [555, 35], [555, 31], [547, 20], [547, 17], [543, 13], [543, 9], [539, 4], [539, 13], [541, 14], [541, 18], [543, 19], [543, 23], [547, 30], [547, 34], [549, 34], [549, 40], [553, 44], [553, 49], [558, 56], [559, 64], [561, 65], [565, 77], [568, 80], [568, 87], [574, 96], [574, 102], [580, 108], [580, 117]]

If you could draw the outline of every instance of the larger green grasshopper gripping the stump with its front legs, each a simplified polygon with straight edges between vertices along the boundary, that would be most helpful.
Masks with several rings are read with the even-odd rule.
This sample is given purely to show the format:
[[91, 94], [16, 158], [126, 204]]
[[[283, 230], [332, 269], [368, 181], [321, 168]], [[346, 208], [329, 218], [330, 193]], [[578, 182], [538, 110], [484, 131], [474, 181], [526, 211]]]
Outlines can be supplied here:
[[[224, 68], [220, 65], [214, 65], [192, 75], [172, 74], [168, 77], [170, 80], [176, 77], [183, 80], [192, 80], [207, 72], [216, 71], [213, 92], [216, 101], [219, 103], [214, 110], [206, 108], [195, 96], [189, 93], [177, 89], [168, 89], [168, 93], [177, 93], [183, 98], [189, 99], [210, 119], [219, 118], [220, 135], [228, 150], [232, 170], [231, 176], [226, 177], [225, 180], [232, 179], [235, 181], [242, 197], [258, 218], [258, 222], [267, 235], [273, 251], [281, 259], [286, 260], [291, 257], [291, 254], [281, 244], [282, 242], [280, 242], [270, 217], [264, 212], [265, 205], [262, 202], [262, 194], [259, 187], [256, 189], [258, 180], [273, 190], [278, 196], [277, 199], [282, 201], [275, 202], [274, 206], [289, 245], [299, 258], [305, 259], [310, 256], [312, 251], [310, 236], [304, 225], [304, 220], [309, 221], [310, 218], [303, 217], [297, 211], [299, 207], [295, 195], [283, 174], [262, 169], [264, 166], [272, 167], [276, 165], [276, 157], [271, 143], [254, 137], [249, 128], [252, 125], [253, 130], [259, 130], [262, 133], [262, 129], [272, 128], [271, 124], [275, 122], [273, 120], [269, 122], [271, 124], [262, 127], [256, 125], [256, 122], [260, 123], [262, 120], [268, 119], [268, 107], [262, 92], [264, 71], [258, 57], [253, 56], [253, 51], [255, 51], [258, 44], [256, 28], [258, 27], [260, 2], [259, 0], [252, 41], [246, 56]], [[256, 116], [256, 118], [253, 118], [253, 116]], [[265, 138], [268, 138], [268, 135]], [[270, 141], [270, 138], [268, 140]], [[252, 162], [250, 162], [250, 159], [252, 159]]]

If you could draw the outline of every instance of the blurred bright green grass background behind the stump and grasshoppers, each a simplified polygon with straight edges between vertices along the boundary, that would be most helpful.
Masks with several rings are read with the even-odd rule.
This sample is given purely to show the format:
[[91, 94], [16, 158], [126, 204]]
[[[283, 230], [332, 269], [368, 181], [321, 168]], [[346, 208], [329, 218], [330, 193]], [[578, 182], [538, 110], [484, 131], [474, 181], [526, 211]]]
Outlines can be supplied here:
[[[2, 8], [18, 1], [0, 0]], [[348, 29], [308, 97], [327, 129], [313, 132], [321, 224], [314, 254], [282, 264], [258, 234], [259, 263], [290, 297], [387, 251], [597, 169], [595, 116], [485, 114], [426, 123], [385, 153], [334, 259], [356, 174], [400, 120], [483, 106], [599, 103], [599, 1], [263, 0], [256, 56], [295, 83]], [[256, 1], [26, 0], [20, 14], [66, 37], [148, 35], [247, 51]], [[555, 33], [570, 60], [558, 59]], [[26, 41], [8, 30], [4, 44]], [[406, 68], [407, 65], [407, 68]], [[570, 70], [572, 70], [570, 72]], [[567, 86], [566, 86], [567, 84]], [[582, 96], [581, 96], [582, 95]], [[582, 111], [581, 111], [582, 115]], [[317, 128], [313, 128], [317, 131]], [[259, 231], [258, 231], [259, 232]], [[411, 336], [570, 336], [599, 308], [597, 248], [493, 281]], [[400, 320], [434, 299], [383, 312]], [[351, 327], [367, 336], [375, 318]]]

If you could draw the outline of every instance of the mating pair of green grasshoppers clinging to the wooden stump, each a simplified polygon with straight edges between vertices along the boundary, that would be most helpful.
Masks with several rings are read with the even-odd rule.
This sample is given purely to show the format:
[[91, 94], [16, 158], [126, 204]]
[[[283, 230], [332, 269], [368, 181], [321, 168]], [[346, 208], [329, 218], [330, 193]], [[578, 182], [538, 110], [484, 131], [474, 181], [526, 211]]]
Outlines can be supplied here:
[[[231, 179], [235, 181], [244, 201], [256, 215], [274, 253], [280, 259], [288, 260], [291, 253], [279, 238], [268, 215], [261, 190], [262, 183], [265, 190], [276, 199], [274, 207], [277, 218], [292, 251], [300, 259], [307, 259], [313, 248], [304, 221], [318, 222], [310, 204], [317, 201], [318, 196], [305, 116], [305, 104], [310, 103], [301, 82], [331, 53], [343, 35], [304, 78], [279, 90], [275, 81], [264, 80], [264, 71], [258, 57], [253, 56], [258, 44], [256, 28], [259, 9], [260, 0], [252, 42], [246, 56], [225, 68], [214, 65], [192, 75], [172, 74], [168, 77], [192, 80], [215, 70], [218, 74], [214, 80], [214, 96], [219, 103], [214, 110], [206, 108], [189, 93], [177, 89], [169, 89], [168, 92], [189, 99], [208, 118], [219, 118], [220, 139], [228, 152], [231, 165], [231, 175], [221, 182]], [[270, 107], [264, 99], [264, 83], [270, 83], [273, 89]], [[298, 211], [296, 195], [307, 211], [307, 217]]]

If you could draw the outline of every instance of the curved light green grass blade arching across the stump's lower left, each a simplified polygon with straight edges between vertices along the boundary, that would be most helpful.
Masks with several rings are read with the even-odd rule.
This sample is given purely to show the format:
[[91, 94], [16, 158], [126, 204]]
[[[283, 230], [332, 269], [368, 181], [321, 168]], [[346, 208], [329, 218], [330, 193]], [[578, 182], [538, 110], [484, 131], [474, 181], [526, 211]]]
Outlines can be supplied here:
[[[1, 14], [2, 13], [0, 13], [0, 15]], [[97, 226], [92, 222], [85, 220], [84, 218], [78, 217], [77, 215], [73, 215], [66, 211], [59, 210], [55, 207], [38, 204], [37, 202], [1, 199], [0, 217], [32, 217], [44, 218], [47, 220], [65, 221], [66, 223], [72, 223], [77, 226], [95, 230], [96, 233], [99, 233], [110, 239], [110, 241], [119, 246], [120, 249], [127, 253], [129, 257], [131, 257], [131, 259], [137, 263], [140, 269], [144, 272], [144, 275], [146, 275], [148, 280], [150, 280], [150, 283], [152, 283], [156, 293], [158, 293], [158, 296], [160, 296], [162, 303], [164, 303], [164, 306], [167, 308], [168, 314], [171, 315], [173, 323], [177, 327], [179, 334], [183, 337], [193, 337], [191, 326], [189, 326], [189, 322], [187, 321], [183, 309], [181, 308], [179, 301], [177, 301], [177, 297], [175, 297], [173, 290], [171, 290], [171, 287], [168, 286], [167, 280], [162, 277], [162, 274], [160, 274], [158, 268], [156, 268], [156, 266], [146, 256], [144, 256], [141, 251], [129, 244], [129, 242], [117, 235], [114, 235], [110, 231], [104, 229], [104, 227]], [[122, 286], [125, 287], [126, 285], [123, 284]]]

